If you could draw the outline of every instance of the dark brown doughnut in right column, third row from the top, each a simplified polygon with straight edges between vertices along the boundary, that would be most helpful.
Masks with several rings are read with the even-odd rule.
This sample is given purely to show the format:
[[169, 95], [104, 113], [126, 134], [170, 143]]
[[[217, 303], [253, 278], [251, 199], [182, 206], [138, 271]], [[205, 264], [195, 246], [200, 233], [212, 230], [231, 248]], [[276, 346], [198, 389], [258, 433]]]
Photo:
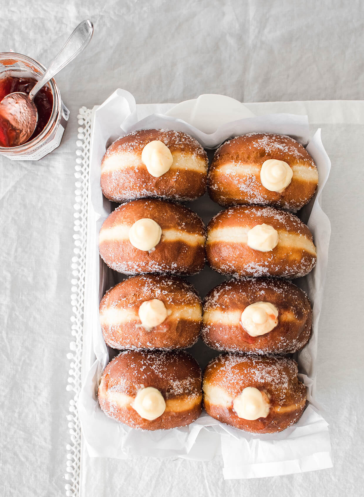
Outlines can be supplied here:
[[311, 329], [306, 294], [282, 279], [226, 281], [203, 304], [201, 338], [217, 350], [293, 353], [306, 345]]

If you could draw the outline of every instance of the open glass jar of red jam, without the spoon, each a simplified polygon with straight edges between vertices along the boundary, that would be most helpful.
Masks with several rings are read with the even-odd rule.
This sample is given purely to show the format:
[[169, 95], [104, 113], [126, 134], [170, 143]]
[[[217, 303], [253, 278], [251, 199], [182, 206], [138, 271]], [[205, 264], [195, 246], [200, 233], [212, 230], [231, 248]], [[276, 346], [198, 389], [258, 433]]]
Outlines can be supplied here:
[[[25, 55], [0, 53], [0, 100], [13, 91], [29, 93], [45, 71], [44, 66]], [[11, 129], [0, 116], [0, 154], [12, 160], [38, 161], [59, 146], [69, 111], [61, 100], [54, 79], [37, 93], [34, 104], [38, 111], [37, 126], [23, 145], [11, 146]]]

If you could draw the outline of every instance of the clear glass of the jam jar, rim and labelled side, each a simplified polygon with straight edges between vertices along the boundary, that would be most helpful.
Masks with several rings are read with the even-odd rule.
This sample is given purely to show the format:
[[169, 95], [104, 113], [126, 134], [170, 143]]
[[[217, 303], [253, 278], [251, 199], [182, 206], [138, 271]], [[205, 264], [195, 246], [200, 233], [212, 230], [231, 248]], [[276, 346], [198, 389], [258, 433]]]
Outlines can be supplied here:
[[[39, 62], [14, 52], [0, 53], [0, 80], [7, 77], [34, 78], [39, 80], [46, 69]], [[59, 88], [54, 79], [47, 86], [53, 96], [53, 108], [48, 123], [38, 136], [17, 147], [0, 147], [0, 154], [11, 160], [38, 161], [59, 146], [66, 128], [69, 110], [61, 100]]]

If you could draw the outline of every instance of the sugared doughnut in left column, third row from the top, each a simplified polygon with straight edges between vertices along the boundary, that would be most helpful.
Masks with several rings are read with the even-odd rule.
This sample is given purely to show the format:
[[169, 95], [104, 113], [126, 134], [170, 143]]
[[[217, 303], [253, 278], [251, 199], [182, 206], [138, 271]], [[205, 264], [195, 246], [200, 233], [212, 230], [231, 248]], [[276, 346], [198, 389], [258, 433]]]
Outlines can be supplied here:
[[176, 276], [133, 276], [108, 290], [100, 302], [105, 343], [117, 349], [190, 347], [201, 323], [201, 299]]

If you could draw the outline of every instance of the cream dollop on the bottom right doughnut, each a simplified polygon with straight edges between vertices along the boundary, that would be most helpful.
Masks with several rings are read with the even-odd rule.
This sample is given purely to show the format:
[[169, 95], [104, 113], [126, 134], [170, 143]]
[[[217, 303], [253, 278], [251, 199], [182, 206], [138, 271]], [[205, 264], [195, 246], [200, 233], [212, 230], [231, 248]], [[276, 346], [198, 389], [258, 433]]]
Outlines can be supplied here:
[[266, 394], [258, 388], [246, 387], [238, 397], [233, 400], [235, 413], [243, 419], [258, 419], [269, 414], [269, 400]]

